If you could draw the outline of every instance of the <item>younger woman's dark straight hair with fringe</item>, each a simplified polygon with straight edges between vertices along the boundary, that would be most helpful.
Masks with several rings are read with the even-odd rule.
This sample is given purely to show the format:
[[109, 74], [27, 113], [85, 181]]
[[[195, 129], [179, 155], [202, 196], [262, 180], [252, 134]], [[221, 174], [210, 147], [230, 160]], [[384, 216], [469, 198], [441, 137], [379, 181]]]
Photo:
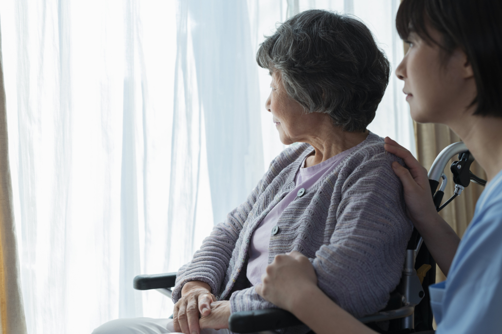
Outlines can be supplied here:
[[[396, 27], [405, 41], [415, 32], [441, 47], [443, 60], [461, 48], [476, 81], [474, 115], [502, 117], [502, 1], [404, 0]], [[441, 33], [442, 41], [434, 41], [427, 27]]]

